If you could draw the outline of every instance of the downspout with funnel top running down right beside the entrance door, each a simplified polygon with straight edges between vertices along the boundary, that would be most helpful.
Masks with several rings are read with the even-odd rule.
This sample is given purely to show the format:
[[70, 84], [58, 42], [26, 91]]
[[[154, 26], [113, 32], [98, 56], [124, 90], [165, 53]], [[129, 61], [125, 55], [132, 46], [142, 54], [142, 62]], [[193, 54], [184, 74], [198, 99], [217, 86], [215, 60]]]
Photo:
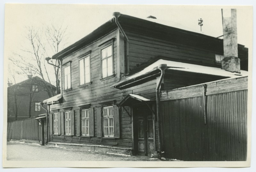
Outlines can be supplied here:
[[157, 116], [157, 126], [158, 126], [158, 151], [157, 154], [161, 154], [161, 121], [160, 121], [160, 85], [163, 81], [164, 78], [164, 70], [167, 68], [167, 64], [161, 64], [158, 66], [158, 69], [161, 70], [161, 75], [159, 78], [159, 81], [157, 82], [156, 85], [156, 116]]

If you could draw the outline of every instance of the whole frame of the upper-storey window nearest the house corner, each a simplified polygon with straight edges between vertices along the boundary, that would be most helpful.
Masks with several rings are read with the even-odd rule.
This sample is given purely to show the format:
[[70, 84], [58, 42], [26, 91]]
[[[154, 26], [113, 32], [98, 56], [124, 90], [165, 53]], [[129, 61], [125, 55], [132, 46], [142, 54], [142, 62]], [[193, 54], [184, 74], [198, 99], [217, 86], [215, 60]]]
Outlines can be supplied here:
[[[102, 59], [102, 50], [104, 50], [104, 49], [106, 49], [106, 48], [108, 48], [109, 46], [112, 46], [112, 48], [111, 48], [111, 50], [112, 50], [112, 74], [111, 75], [108, 75], [108, 73], [107, 73], [107, 76], [105, 76], [105, 77], [103, 77], [103, 70], [102, 70], [102, 61], [104, 60], [104, 59], [107, 59], [107, 72], [108, 72], [108, 58], [110, 58], [110, 56], [109, 57], [106, 57], [106, 58], [104, 58], [104, 59]], [[100, 75], [101, 75], [101, 79], [104, 79], [104, 78], [108, 78], [108, 77], [110, 77], [110, 76], [112, 76], [112, 75], [115, 75], [115, 71], [114, 71], [114, 43], [113, 43], [113, 40], [111, 40], [111, 42], [107, 42], [107, 43], [105, 43], [105, 44], [103, 44], [101, 47], [100, 47]]]

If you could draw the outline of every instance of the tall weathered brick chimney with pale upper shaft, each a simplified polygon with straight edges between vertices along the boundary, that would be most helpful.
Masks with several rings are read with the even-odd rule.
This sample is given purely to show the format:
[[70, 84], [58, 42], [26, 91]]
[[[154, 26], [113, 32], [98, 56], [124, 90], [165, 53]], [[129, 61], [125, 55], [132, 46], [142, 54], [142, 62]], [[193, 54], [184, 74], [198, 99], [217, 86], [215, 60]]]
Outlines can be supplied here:
[[221, 68], [240, 73], [240, 59], [237, 53], [236, 9], [222, 9], [224, 59]]

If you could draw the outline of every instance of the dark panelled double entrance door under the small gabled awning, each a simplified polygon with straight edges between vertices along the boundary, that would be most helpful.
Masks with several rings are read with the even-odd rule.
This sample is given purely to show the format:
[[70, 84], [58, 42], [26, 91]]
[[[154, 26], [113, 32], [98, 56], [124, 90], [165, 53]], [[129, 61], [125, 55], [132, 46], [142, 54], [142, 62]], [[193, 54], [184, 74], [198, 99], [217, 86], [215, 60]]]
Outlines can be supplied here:
[[140, 110], [135, 114], [135, 133], [137, 142], [137, 153], [139, 155], [150, 156], [154, 152], [154, 130], [152, 113], [148, 110]]

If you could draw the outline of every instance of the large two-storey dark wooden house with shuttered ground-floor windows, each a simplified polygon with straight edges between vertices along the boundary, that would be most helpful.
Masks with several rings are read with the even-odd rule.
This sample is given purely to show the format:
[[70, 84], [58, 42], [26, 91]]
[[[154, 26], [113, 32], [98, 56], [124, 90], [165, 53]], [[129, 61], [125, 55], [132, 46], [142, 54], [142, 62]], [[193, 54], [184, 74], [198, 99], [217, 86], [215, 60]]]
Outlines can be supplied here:
[[114, 15], [52, 56], [61, 61], [62, 88], [44, 100], [50, 107], [50, 142], [150, 155], [159, 142], [159, 65], [167, 64], [161, 90], [247, 75], [248, 49], [242, 45], [241, 72], [233, 73], [221, 69], [222, 39]]

